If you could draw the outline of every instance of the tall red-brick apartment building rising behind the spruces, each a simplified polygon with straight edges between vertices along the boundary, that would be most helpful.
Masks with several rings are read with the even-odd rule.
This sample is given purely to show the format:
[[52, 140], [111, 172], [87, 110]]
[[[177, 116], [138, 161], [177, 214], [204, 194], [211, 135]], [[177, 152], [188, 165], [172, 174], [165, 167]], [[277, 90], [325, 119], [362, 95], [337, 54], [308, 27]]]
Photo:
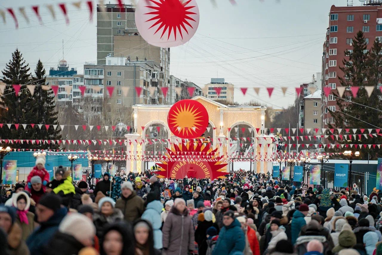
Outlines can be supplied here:
[[[336, 98], [340, 86], [338, 77], [343, 77], [340, 70], [342, 60], [348, 58], [345, 51], [352, 51], [352, 41], [358, 31], [364, 32], [367, 50], [372, 47], [373, 41], [382, 41], [382, 0], [367, 0], [362, 6], [336, 7], [332, 5], [329, 12], [329, 26], [324, 43], [322, 56], [323, 87], [330, 87], [329, 97], [322, 90], [322, 123], [323, 128], [333, 123], [328, 109], [338, 110]], [[345, 92], [346, 93], [346, 92]], [[341, 99], [337, 99], [341, 100]]]

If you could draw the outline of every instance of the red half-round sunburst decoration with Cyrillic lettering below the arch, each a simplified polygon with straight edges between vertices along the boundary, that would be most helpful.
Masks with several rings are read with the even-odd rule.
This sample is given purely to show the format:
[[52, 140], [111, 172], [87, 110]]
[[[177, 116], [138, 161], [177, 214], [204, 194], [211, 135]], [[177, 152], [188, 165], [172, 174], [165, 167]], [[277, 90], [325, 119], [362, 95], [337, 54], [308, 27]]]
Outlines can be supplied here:
[[[171, 144], [163, 155], [157, 172], [159, 178], [219, 178], [227, 174], [223, 169], [227, 163], [223, 162], [223, 156], [219, 155], [218, 148], [213, 149], [211, 144], [199, 142], [187, 142]], [[203, 159], [194, 159], [193, 155], [201, 156]], [[183, 156], [184, 159], [179, 159]]]

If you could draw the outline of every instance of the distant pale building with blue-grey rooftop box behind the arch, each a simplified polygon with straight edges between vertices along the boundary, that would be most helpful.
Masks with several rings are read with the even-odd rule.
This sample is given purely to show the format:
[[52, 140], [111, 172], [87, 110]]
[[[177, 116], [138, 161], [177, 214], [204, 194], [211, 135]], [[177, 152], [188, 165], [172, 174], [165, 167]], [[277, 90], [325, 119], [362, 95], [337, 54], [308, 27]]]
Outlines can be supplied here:
[[[216, 88], [221, 88], [218, 95]], [[203, 88], [203, 95], [224, 105], [233, 104], [233, 84], [225, 82], [224, 78], [211, 78], [211, 82]]]

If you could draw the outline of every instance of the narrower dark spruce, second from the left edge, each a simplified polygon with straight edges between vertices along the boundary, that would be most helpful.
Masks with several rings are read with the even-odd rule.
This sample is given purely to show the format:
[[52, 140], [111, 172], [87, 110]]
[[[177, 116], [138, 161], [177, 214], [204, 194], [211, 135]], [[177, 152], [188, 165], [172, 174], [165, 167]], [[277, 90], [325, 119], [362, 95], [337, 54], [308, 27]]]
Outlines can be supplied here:
[[[47, 130], [45, 126], [42, 126], [40, 130], [36, 133], [36, 139], [41, 140], [61, 140], [61, 129], [58, 124], [58, 116], [55, 105], [55, 96], [53, 90], [43, 90], [41, 85], [45, 84], [46, 75], [44, 65], [41, 60], [37, 62], [36, 69], [34, 70], [35, 76], [33, 76], [33, 84], [36, 85], [33, 100], [38, 102], [38, 107], [36, 110], [36, 120], [35, 124], [49, 124], [57, 125], [54, 129], [53, 126], [49, 126]], [[37, 127], [35, 127], [37, 128]], [[37, 148], [40, 149], [58, 149], [58, 144], [39, 144]]]

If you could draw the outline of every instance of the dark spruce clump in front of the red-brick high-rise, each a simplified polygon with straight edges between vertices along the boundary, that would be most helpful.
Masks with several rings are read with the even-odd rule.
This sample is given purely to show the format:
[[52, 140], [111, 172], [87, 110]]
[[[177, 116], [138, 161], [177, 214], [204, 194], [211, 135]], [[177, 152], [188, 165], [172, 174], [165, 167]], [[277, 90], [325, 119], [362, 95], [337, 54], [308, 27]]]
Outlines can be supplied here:
[[[333, 92], [335, 100], [337, 103], [336, 111], [332, 112], [329, 110], [333, 117], [334, 124], [329, 124], [329, 128], [342, 128], [342, 134], [353, 134], [352, 131], [349, 133], [345, 132], [346, 128], [365, 128], [373, 129], [375, 133], [377, 127], [380, 127], [380, 120], [382, 118], [382, 104], [380, 100], [382, 99], [381, 92], [379, 90], [382, 72], [382, 43], [375, 41], [370, 51], [367, 51], [367, 42], [364, 38], [363, 32], [359, 31], [355, 38], [353, 39], [353, 51], [345, 51], [345, 55], [348, 55], [348, 59], [342, 61], [343, 66], [340, 67], [344, 76], [338, 77], [340, 80], [340, 85], [346, 87], [345, 93], [343, 94], [343, 99], [341, 99], [338, 93]], [[359, 87], [358, 94], [353, 97], [351, 93], [351, 87]], [[365, 86], [373, 86], [374, 91], [371, 96], [368, 97]], [[374, 109], [372, 109], [374, 108]], [[369, 124], [367, 124], [369, 123]], [[331, 134], [327, 132], [326, 134]], [[337, 134], [337, 133], [336, 133]], [[370, 137], [367, 131], [367, 138], [361, 134], [361, 139], [359, 139], [358, 134], [361, 134], [359, 129], [356, 132], [356, 141], [353, 139], [343, 139], [338, 137], [337, 140], [331, 139], [329, 136], [329, 141], [332, 143], [338, 142], [339, 144], [382, 144], [382, 137]], [[377, 159], [381, 157], [382, 148], [364, 146], [351, 148], [348, 147], [335, 147], [334, 149], [328, 149], [328, 151], [342, 152], [343, 150], [358, 150], [360, 152], [361, 159], [367, 159], [369, 156], [371, 159]]]

